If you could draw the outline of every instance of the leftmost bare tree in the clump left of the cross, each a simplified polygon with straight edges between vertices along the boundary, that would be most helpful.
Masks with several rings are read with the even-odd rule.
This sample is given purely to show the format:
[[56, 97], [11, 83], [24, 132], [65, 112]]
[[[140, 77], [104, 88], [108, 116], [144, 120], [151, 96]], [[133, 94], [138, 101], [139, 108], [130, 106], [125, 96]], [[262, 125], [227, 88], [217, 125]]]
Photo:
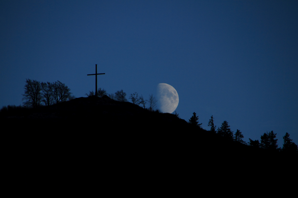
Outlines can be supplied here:
[[41, 93], [41, 84], [39, 81], [26, 79], [25, 84], [25, 94], [22, 94], [24, 98], [22, 100], [26, 100], [24, 103], [25, 106], [28, 107], [37, 107], [40, 105], [43, 95]]

